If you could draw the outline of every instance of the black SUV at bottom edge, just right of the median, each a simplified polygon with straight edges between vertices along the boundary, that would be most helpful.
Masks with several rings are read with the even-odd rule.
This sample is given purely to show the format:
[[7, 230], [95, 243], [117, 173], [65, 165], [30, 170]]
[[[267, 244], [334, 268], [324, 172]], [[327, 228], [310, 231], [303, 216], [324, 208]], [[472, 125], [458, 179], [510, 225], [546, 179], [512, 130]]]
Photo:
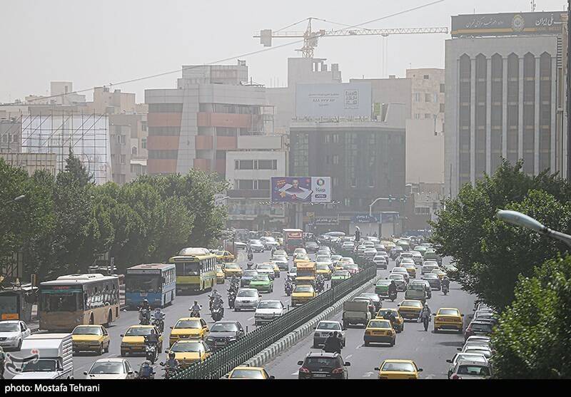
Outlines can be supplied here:
[[305, 360], [298, 361], [298, 365], [301, 366], [298, 379], [348, 379], [347, 367], [351, 364], [343, 362], [343, 358], [338, 353], [314, 351], [305, 356]]

